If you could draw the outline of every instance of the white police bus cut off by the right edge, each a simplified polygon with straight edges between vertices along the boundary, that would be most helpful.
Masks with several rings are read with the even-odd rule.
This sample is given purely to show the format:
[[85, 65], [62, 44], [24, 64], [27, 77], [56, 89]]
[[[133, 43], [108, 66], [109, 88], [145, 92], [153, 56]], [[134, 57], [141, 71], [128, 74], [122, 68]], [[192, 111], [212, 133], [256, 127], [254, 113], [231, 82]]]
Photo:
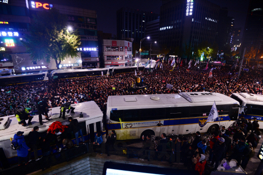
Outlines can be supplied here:
[[263, 129], [263, 95], [250, 93], [233, 93], [231, 98], [240, 104], [239, 116], [243, 115], [246, 119], [257, 117], [260, 121], [260, 129]]

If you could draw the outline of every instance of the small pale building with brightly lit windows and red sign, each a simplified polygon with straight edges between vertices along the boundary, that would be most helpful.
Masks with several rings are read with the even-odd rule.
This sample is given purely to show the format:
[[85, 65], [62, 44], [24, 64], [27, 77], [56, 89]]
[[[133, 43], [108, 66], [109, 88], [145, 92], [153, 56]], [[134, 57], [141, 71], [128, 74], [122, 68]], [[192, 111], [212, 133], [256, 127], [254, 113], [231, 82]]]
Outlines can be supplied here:
[[105, 67], [133, 66], [132, 42], [127, 40], [103, 39]]

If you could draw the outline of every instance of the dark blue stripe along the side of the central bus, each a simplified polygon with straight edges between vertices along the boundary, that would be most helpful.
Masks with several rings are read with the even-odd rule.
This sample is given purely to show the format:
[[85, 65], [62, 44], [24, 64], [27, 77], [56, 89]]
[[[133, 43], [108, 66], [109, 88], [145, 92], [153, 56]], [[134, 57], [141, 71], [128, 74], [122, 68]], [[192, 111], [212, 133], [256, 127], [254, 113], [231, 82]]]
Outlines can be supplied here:
[[[230, 120], [230, 117], [227, 116], [219, 116], [220, 121], [227, 121]], [[170, 119], [170, 120], [164, 120], [164, 126], [169, 126], [169, 125], [187, 125], [187, 124], [198, 124], [199, 119], [207, 119], [207, 117], [195, 117], [195, 118], [181, 118], [181, 119]], [[214, 120], [219, 121], [219, 118], [216, 118]], [[147, 127], [147, 126], [146, 126]], [[114, 129], [122, 129], [121, 128], [121, 123], [111, 123], [107, 124], [108, 130], [114, 130]]]

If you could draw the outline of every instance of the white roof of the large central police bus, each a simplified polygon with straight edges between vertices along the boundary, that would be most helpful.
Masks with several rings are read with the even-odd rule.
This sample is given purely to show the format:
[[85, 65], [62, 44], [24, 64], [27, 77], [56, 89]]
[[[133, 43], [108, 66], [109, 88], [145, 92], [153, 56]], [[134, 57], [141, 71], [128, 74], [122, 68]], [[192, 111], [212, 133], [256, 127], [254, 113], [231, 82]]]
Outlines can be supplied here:
[[217, 105], [239, 104], [239, 102], [235, 99], [219, 93], [184, 92], [180, 94], [109, 96], [107, 109], [115, 108], [117, 110], [122, 110], [135, 108], [162, 108], [200, 105], [212, 106], [214, 101]]

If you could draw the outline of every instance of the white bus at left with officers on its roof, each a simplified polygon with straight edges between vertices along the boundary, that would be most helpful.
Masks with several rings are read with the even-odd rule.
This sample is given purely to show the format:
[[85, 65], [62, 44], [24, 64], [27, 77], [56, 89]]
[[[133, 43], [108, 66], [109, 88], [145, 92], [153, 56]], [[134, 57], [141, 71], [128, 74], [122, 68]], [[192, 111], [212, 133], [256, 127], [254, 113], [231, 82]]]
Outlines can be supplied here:
[[[35, 127], [39, 127], [40, 133], [47, 132], [49, 126], [55, 122], [60, 121], [63, 125], [68, 125], [69, 121], [67, 118], [71, 115], [73, 118], [76, 118], [81, 126], [83, 136], [85, 140], [91, 139], [91, 141], [94, 141], [95, 133], [98, 131], [102, 132], [102, 117], [103, 113], [97, 106], [97, 104], [94, 101], [88, 101], [83, 103], [77, 103], [72, 104], [73, 107], [75, 107], [75, 114], [67, 114], [66, 113], [66, 119], [58, 118], [60, 113], [60, 108], [51, 108], [52, 110], [49, 111], [49, 116], [51, 116], [52, 120], [47, 121], [43, 117], [43, 125], [39, 125], [38, 121], [38, 115], [34, 116], [32, 119], [32, 125], [28, 125], [26, 127], [19, 125], [18, 120], [16, 117], [13, 116], [6, 116], [6, 117], [0, 117], [0, 148], [3, 148], [4, 154], [8, 159], [9, 164], [16, 164], [18, 163], [17, 158], [17, 151], [14, 151], [11, 149], [10, 144], [12, 138], [14, 138], [14, 135], [18, 131], [24, 132], [24, 137], [26, 142], [28, 141], [28, 134], [29, 132]], [[80, 112], [82, 112], [83, 117], [79, 117]], [[47, 122], [46, 122], [47, 121]], [[28, 121], [27, 121], [28, 122]], [[105, 140], [105, 132], [102, 132], [102, 136]], [[75, 144], [75, 135], [71, 134], [71, 139], [73, 143]], [[81, 142], [81, 136], [78, 137], [79, 142]], [[38, 145], [40, 146], [40, 145]], [[32, 156], [34, 152], [32, 152]], [[38, 156], [41, 156], [42, 152], [41, 149], [38, 148]]]

